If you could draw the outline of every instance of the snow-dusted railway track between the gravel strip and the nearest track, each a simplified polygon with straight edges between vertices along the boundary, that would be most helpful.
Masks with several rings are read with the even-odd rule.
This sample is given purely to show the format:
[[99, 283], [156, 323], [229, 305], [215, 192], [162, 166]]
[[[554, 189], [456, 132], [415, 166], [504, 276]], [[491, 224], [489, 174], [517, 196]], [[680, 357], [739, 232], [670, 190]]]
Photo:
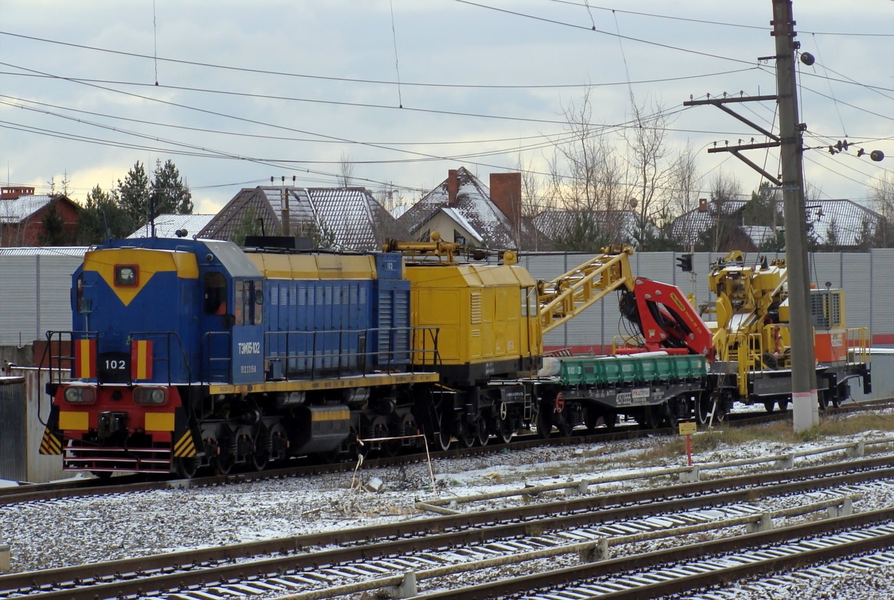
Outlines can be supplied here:
[[[749, 504], [758, 496], [757, 490], [759, 496], [785, 497], [827, 489], [831, 490], [831, 504], [841, 504], [842, 498], [855, 493], [855, 487], [894, 478], [890, 464], [890, 456], [876, 456], [611, 496], [569, 497], [371, 528], [14, 573], [0, 576], [0, 597], [92, 600], [168, 596], [173, 590], [178, 590], [179, 598], [195, 600], [209, 600], [209, 594], [224, 597], [290, 592], [329, 597], [326, 595], [332, 595], [335, 587], [361, 585], [375, 589], [385, 579], [391, 581], [388, 578], [400, 577], [402, 581], [406, 571], [422, 573], [421, 580], [427, 579], [426, 571], [455, 571], [460, 564], [466, 571], [473, 571], [469, 564], [485, 560], [518, 562], [513, 558], [518, 554], [576, 554], [579, 545], [593, 546], [596, 540], [624, 537], [631, 532], [653, 531], [657, 537], [678, 528], [699, 524], [708, 527], [711, 521], [738, 519], [741, 525], [760, 519], [761, 511]], [[706, 512], [694, 512], [699, 510]]]

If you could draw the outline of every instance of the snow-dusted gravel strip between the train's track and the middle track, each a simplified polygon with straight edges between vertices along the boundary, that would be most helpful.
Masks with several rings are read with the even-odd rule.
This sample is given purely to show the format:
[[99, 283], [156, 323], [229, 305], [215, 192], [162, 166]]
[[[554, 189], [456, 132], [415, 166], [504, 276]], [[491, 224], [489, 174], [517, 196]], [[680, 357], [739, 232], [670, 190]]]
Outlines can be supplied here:
[[[864, 438], [887, 435], [887, 432], [866, 432]], [[718, 446], [704, 454], [696, 454], [694, 458], [696, 462], [704, 464], [804, 451], [846, 441], [855, 440], [827, 438], [798, 444], [797, 447], [753, 442], [735, 447]], [[221, 487], [164, 489], [5, 506], [0, 507], [0, 543], [12, 546], [13, 571], [28, 571], [407, 521], [433, 516], [417, 510], [417, 501], [685, 465], [685, 454], [680, 456], [675, 452], [662, 452], [667, 446], [670, 446], [667, 437], [647, 437], [602, 444], [507, 451], [462, 460], [438, 460], [431, 464], [434, 484], [429, 465], [417, 462], [392, 468], [361, 465], [356, 473], [301, 479], [273, 479]], [[840, 452], [818, 454], [797, 459], [795, 466], [840, 460], [843, 460]], [[766, 468], [764, 463], [754, 467], [711, 471], [710, 476], [713, 477], [715, 472], [717, 476], [732, 476]], [[356, 485], [374, 478], [383, 482], [377, 492]], [[652, 487], [671, 481], [668, 476], [663, 476], [663, 479], [634, 479], [599, 489], [611, 492]], [[812, 501], [805, 496], [791, 496], [776, 499], [766, 508], [778, 510]], [[500, 498], [463, 504], [459, 510], [486, 510], [518, 502], [522, 502], [519, 496]], [[894, 504], [894, 485], [880, 486], [877, 497], [867, 497], [865, 501], [855, 504], [855, 509], [873, 510], [891, 504]], [[866, 581], [869, 579], [867, 574]], [[894, 586], [890, 583], [887, 585]], [[894, 587], [885, 589], [891, 592], [890, 596], [877, 597], [894, 597]], [[823, 592], [828, 590], [823, 589]], [[813, 596], [804, 590], [799, 593], [805, 598], [858, 597]]]

